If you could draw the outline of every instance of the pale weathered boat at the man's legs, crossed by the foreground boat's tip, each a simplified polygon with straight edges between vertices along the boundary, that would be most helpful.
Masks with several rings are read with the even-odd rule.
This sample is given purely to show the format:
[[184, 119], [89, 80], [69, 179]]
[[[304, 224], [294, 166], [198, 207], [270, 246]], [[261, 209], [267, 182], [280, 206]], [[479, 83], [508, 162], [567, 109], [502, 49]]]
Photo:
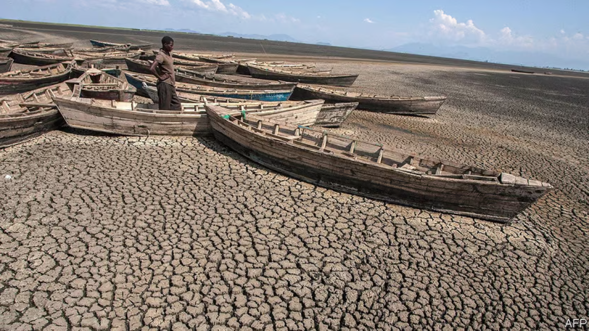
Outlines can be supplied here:
[[[210, 134], [204, 103], [182, 104], [181, 111], [158, 110], [154, 104], [117, 102], [90, 98], [54, 98], [59, 112], [70, 127], [123, 135], [201, 135]], [[284, 106], [262, 102], [228, 102], [236, 114], [256, 112], [262, 117], [303, 124], [314, 123], [323, 100]]]

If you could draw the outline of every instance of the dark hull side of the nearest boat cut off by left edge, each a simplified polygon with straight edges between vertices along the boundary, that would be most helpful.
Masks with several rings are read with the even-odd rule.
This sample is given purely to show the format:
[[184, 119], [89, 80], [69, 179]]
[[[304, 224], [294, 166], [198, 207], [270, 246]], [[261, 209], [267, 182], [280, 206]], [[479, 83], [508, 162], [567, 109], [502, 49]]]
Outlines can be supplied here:
[[8, 119], [0, 116], [0, 148], [24, 143], [64, 124], [64, 118], [57, 110], [31, 117]]

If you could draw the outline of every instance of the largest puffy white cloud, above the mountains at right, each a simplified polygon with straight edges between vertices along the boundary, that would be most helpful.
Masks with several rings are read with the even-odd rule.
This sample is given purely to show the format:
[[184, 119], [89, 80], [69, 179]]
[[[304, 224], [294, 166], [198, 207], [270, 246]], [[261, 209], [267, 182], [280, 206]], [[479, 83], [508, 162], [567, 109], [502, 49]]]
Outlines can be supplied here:
[[485, 32], [477, 28], [472, 19], [466, 23], [459, 23], [451, 15], [444, 14], [441, 9], [434, 11], [434, 18], [430, 19], [432, 24], [431, 35], [435, 38], [442, 38], [455, 42], [467, 44], [479, 44], [485, 40]]

